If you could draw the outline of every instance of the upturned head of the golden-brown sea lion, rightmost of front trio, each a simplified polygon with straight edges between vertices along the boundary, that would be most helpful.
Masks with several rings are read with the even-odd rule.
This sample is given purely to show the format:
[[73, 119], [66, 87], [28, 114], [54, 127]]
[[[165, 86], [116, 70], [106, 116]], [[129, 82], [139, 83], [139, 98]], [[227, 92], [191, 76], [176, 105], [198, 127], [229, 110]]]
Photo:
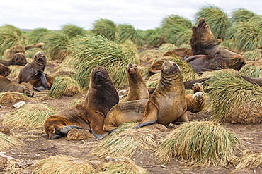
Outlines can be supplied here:
[[161, 74], [165, 77], [172, 77], [172, 79], [182, 77], [179, 66], [172, 61], [164, 61], [161, 67]]

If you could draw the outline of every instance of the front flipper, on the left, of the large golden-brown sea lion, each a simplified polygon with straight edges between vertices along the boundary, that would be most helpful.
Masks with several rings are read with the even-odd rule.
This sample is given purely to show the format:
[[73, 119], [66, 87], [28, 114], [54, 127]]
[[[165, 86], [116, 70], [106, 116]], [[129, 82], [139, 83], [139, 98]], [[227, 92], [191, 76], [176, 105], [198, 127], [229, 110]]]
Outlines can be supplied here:
[[145, 125], [152, 125], [156, 123], [157, 116], [159, 114], [159, 109], [151, 101], [148, 102], [149, 103], [147, 104], [147, 108], [143, 120], [134, 129], [138, 129]]

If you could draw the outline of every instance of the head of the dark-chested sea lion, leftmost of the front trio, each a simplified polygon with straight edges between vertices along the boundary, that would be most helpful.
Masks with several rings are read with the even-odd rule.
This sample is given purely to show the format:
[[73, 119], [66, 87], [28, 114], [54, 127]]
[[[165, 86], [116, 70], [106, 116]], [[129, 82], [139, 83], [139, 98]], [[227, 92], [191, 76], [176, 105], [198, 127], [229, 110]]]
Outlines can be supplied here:
[[93, 68], [90, 85], [104, 85], [108, 82], [110, 82], [110, 77], [106, 68], [103, 66], [96, 66], [96, 68]]

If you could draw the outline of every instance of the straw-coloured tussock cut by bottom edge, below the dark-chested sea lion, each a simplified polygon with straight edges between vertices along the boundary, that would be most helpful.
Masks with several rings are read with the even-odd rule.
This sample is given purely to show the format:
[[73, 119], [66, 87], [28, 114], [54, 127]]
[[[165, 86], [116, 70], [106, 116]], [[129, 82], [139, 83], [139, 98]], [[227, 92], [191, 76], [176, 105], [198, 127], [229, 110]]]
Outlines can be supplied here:
[[76, 159], [71, 156], [50, 156], [42, 159], [35, 164], [35, 173], [63, 173], [79, 174], [93, 173], [95, 169], [89, 161]]

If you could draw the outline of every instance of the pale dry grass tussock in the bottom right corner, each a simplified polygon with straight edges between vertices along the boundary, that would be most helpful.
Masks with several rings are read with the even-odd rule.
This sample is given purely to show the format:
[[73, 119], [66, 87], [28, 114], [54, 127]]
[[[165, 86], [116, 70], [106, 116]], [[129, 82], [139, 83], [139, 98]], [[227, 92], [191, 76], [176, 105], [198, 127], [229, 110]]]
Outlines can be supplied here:
[[236, 169], [233, 170], [232, 173], [237, 172], [239, 170], [243, 170], [244, 168], [257, 168], [262, 164], [262, 151], [252, 152], [247, 151], [241, 159], [239, 159], [239, 164], [236, 166]]

